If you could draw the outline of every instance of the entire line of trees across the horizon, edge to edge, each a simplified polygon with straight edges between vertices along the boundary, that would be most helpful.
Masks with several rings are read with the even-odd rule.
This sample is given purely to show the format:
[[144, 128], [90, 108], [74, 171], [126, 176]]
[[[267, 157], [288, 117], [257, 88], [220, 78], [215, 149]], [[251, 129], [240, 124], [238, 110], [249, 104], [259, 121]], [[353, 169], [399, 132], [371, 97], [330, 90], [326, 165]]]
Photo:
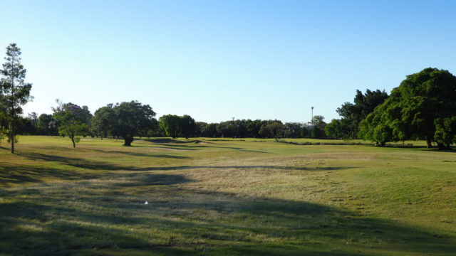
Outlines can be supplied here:
[[81, 136], [122, 138], [125, 146], [134, 137], [365, 139], [378, 146], [425, 139], [428, 147], [435, 143], [439, 149], [456, 142], [456, 77], [437, 68], [408, 75], [390, 95], [384, 90], [356, 90], [353, 103], [345, 102], [336, 110], [341, 119], [328, 124], [321, 115], [309, 123], [261, 119], [206, 123], [186, 114], [156, 119], [150, 105], [134, 100], [108, 104], [93, 114], [87, 106], [57, 101], [53, 114], [32, 112], [23, 117], [21, 105], [33, 97], [20, 55], [20, 48], [11, 43], [0, 70], [0, 141], [6, 137], [12, 153], [16, 134], [65, 136], [75, 147]]

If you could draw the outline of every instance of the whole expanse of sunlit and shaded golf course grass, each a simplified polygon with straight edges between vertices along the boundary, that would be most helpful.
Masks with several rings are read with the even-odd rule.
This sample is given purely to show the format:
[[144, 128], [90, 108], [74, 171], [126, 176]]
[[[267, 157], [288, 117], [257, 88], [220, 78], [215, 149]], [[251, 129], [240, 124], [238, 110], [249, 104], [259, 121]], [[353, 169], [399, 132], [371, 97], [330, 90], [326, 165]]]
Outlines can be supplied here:
[[455, 254], [454, 152], [254, 141], [2, 143], [0, 255]]

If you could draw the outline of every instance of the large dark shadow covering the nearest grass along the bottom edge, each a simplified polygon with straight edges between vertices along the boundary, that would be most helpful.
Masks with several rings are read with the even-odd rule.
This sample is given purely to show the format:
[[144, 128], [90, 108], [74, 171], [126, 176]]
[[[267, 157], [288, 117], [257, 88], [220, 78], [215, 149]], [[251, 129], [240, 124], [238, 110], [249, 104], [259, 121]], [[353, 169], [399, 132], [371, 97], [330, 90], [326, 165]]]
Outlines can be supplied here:
[[[147, 184], [143, 177], [136, 186], [147, 191]], [[452, 255], [455, 249], [453, 237], [316, 203], [172, 186], [140, 196], [119, 193], [115, 184], [89, 188], [32, 191], [28, 198], [26, 190], [2, 191], [8, 199], [0, 204], [2, 252], [367, 256]]]

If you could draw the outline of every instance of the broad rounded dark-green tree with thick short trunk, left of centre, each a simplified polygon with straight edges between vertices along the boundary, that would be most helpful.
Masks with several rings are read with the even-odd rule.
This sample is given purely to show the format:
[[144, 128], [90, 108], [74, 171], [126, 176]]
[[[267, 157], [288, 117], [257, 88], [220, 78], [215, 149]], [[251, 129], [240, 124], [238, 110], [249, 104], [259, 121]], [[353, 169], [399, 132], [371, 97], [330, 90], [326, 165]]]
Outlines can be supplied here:
[[153, 117], [155, 117], [152, 107], [133, 100], [117, 103], [113, 110], [116, 120], [113, 133], [123, 137], [124, 146], [131, 146], [133, 137], [139, 135], [147, 127], [151, 127]]

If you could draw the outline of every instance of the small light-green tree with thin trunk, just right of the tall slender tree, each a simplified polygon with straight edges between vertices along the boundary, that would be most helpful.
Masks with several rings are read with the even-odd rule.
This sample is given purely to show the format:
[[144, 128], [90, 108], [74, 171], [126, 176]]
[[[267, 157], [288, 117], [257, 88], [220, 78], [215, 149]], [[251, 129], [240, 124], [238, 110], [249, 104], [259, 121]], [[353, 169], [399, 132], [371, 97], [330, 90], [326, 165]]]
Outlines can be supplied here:
[[53, 107], [53, 119], [56, 120], [58, 133], [62, 136], [68, 136], [76, 147], [76, 142], [80, 141], [78, 136], [86, 132], [86, 112], [83, 107], [79, 107], [71, 102], [63, 103], [57, 100], [58, 106]]

